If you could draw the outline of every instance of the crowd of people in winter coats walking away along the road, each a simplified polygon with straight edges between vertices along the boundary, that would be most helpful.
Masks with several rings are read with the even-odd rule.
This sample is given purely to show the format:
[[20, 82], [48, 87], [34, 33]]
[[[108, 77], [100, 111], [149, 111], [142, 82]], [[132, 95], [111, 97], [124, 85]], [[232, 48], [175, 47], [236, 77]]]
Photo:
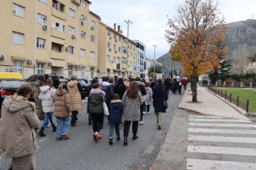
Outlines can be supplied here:
[[[55, 132], [56, 140], [70, 139], [68, 130], [70, 127], [75, 128], [78, 111], [83, 110], [81, 85], [75, 75], [67, 84], [63, 82], [57, 84], [57, 81], [58, 78], [54, 73], [48, 79], [39, 76], [33, 87], [23, 84], [17, 94], [8, 96], [4, 100], [1, 113], [0, 154], [5, 152], [6, 157], [12, 158], [10, 169], [21, 169], [20, 167], [24, 165], [26, 165], [24, 169], [35, 169], [34, 152], [39, 147], [38, 136], [46, 136], [44, 129], [48, 122]], [[138, 127], [144, 124], [143, 116], [149, 113], [156, 115], [156, 127], [161, 130], [163, 113], [166, 113], [168, 107], [166, 101], [169, 93], [181, 94], [181, 87], [186, 90], [187, 83], [187, 79], [103, 77], [100, 84], [95, 77], [87, 89], [86, 109], [88, 125], [92, 125], [92, 139], [95, 142], [102, 139], [100, 130], [105, 115], [109, 124], [110, 145], [113, 145], [114, 132], [117, 141], [121, 139], [120, 129], [123, 130], [123, 144], [128, 145], [131, 125], [132, 140], [137, 140]], [[32, 94], [35, 103], [28, 101]], [[154, 112], [150, 111], [151, 104]], [[56, 118], [56, 125], [53, 116]], [[40, 120], [43, 121], [41, 128]], [[17, 130], [23, 135], [18, 135], [20, 137], [18, 140], [11, 140], [17, 137]], [[26, 149], [22, 149], [21, 145], [26, 145]]]

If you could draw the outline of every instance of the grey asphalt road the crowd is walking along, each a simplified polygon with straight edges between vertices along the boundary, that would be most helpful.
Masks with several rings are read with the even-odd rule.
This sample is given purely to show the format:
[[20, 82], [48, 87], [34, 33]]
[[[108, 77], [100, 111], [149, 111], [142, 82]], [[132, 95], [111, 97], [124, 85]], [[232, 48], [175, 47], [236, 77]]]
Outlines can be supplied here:
[[[41, 148], [36, 152], [37, 170], [63, 169], [149, 169], [159, 153], [166, 138], [169, 125], [174, 117], [182, 95], [169, 94], [169, 108], [163, 117], [162, 130], [157, 130], [156, 115], [151, 105], [151, 113], [144, 115], [144, 125], [139, 125], [137, 140], [132, 140], [132, 127], [128, 137], [128, 145], [123, 145], [123, 131], [121, 140], [109, 145], [109, 126], [107, 118], [100, 131], [102, 140], [93, 140], [92, 125], [87, 125], [87, 102], [83, 101], [84, 111], [78, 114], [78, 123], [70, 128], [69, 140], [55, 140], [55, 133], [46, 128], [46, 137], [41, 137]], [[11, 162], [6, 159], [5, 166]]]

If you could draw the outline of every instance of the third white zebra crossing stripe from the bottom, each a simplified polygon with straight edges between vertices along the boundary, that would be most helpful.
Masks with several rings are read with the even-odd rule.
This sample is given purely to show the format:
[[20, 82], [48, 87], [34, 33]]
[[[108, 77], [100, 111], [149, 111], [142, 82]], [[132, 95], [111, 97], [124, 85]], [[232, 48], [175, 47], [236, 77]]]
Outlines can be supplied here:
[[188, 140], [206, 141], [206, 142], [235, 142], [235, 143], [256, 144], [256, 137], [223, 137], [223, 136], [188, 135]]

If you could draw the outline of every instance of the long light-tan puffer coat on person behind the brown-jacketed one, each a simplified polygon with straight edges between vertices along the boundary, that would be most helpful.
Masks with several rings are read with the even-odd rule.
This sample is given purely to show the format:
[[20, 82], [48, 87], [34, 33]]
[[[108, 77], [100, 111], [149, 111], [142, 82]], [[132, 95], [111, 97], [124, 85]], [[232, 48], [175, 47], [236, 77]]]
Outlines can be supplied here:
[[78, 89], [78, 81], [70, 80], [67, 84], [68, 94], [70, 95], [70, 101], [72, 105], [72, 111], [82, 110], [82, 98]]

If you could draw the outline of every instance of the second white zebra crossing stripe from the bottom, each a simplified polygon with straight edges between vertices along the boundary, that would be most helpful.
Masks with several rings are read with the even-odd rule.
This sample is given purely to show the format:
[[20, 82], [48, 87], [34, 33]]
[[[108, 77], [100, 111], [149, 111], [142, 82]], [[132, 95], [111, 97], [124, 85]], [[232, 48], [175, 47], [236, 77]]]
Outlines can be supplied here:
[[211, 147], [188, 145], [188, 152], [207, 154], [236, 154], [246, 156], [256, 156], [256, 149], [242, 147]]

